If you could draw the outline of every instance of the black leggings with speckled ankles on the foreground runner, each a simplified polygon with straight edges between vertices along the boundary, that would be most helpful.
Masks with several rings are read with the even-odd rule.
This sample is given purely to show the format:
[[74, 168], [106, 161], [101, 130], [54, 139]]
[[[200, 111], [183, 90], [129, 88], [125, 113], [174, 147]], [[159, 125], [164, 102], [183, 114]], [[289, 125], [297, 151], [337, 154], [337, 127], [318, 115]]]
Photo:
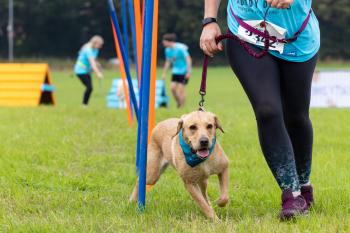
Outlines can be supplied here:
[[254, 109], [267, 164], [282, 190], [299, 190], [311, 172], [309, 106], [317, 55], [306, 62], [289, 62], [271, 54], [253, 58], [234, 40], [228, 40], [226, 48]]

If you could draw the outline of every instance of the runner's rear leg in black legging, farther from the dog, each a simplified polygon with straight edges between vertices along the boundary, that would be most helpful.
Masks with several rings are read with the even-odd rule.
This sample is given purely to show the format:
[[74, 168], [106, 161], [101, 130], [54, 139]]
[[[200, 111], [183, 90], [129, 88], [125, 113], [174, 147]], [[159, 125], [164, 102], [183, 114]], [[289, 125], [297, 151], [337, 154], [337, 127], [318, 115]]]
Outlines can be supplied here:
[[280, 61], [284, 121], [292, 141], [301, 185], [309, 182], [311, 172], [313, 130], [309, 107], [316, 63], [317, 55], [301, 63]]

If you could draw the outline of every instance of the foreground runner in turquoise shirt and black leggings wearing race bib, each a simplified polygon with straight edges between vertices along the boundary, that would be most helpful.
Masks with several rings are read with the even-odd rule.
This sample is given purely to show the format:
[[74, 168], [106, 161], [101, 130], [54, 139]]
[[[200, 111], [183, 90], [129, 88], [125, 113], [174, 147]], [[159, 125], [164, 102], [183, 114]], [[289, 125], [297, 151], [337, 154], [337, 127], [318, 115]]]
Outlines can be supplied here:
[[[224, 49], [215, 42], [221, 35], [219, 4], [205, 0], [200, 47], [209, 56]], [[283, 220], [307, 213], [314, 203], [309, 107], [320, 29], [311, 5], [312, 0], [229, 0], [227, 5], [228, 28], [241, 40], [226, 41], [227, 56], [253, 107], [262, 152], [282, 191]], [[252, 51], [260, 53], [265, 39], [257, 31], [265, 29], [280, 41], [298, 36], [269, 43], [268, 53], [257, 59]]]

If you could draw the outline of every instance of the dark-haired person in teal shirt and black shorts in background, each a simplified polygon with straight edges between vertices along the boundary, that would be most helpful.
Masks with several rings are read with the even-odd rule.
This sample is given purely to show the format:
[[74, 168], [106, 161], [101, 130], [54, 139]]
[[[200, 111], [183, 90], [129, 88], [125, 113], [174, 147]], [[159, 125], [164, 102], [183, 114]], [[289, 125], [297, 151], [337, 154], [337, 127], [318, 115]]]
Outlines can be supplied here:
[[192, 59], [187, 45], [176, 42], [176, 34], [170, 33], [163, 36], [165, 47], [165, 63], [162, 79], [165, 80], [166, 72], [172, 66], [171, 92], [177, 103], [177, 107], [184, 106], [186, 102], [185, 86], [191, 76]]

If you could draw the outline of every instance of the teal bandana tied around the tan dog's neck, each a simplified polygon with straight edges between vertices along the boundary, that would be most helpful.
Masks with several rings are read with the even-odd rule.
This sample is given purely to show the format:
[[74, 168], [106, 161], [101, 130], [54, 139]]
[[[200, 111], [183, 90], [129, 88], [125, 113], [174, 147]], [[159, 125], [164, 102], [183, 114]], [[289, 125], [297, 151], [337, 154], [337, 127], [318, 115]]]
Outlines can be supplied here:
[[191, 147], [185, 142], [185, 140], [182, 137], [182, 129], [179, 132], [179, 143], [180, 143], [182, 152], [185, 155], [186, 163], [190, 167], [195, 167], [209, 158], [209, 156], [214, 150], [214, 147], [216, 144], [216, 137], [214, 137], [212, 146], [209, 148], [209, 155], [205, 158], [201, 158], [197, 154], [192, 153]]

